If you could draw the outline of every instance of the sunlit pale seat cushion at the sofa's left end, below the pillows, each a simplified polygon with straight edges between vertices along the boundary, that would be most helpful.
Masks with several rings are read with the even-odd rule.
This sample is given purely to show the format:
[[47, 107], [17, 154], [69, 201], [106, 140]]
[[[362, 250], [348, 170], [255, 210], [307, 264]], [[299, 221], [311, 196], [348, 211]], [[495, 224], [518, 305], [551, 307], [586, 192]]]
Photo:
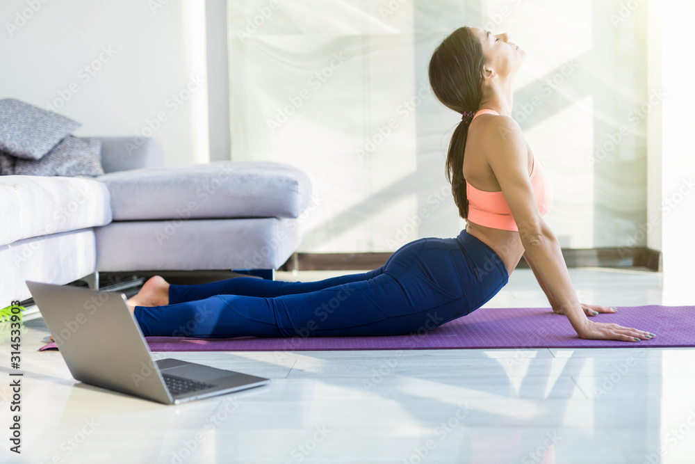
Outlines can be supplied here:
[[0, 245], [111, 222], [108, 189], [79, 177], [0, 177]]

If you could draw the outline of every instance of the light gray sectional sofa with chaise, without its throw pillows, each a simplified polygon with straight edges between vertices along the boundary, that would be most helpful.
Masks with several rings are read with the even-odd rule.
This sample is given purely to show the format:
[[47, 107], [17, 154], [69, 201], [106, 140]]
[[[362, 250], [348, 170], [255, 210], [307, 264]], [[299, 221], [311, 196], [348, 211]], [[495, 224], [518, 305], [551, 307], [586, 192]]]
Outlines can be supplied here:
[[[0, 301], [25, 280], [99, 272], [272, 270], [301, 240], [309, 177], [284, 163], [162, 166], [155, 138], [101, 137], [99, 177], [0, 176]], [[4, 305], [3, 305], [4, 306]]]

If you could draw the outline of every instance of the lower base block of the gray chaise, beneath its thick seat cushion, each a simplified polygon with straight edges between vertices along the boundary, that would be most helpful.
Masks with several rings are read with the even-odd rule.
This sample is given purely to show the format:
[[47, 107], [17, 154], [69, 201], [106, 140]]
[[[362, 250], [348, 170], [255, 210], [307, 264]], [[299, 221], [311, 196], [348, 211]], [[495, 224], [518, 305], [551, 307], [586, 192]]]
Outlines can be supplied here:
[[97, 271], [278, 269], [299, 246], [290, 218], [122, 221], [96, 227]]

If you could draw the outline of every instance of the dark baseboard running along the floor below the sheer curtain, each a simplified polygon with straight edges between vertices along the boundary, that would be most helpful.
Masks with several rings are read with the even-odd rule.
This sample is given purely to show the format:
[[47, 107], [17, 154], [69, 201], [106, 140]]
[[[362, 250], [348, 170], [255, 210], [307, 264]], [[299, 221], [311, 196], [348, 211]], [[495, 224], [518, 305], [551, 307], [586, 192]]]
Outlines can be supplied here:
[[[278, 271], [339, 271], [377, 269], [392, 253], [293, 253]], [[663, 271], [662, 253], [646, 247], [569, 248], [562, 250], [568, 268], [571, 267], [646, 267]], [[529, 269], [523, 257], [518, 268]]]

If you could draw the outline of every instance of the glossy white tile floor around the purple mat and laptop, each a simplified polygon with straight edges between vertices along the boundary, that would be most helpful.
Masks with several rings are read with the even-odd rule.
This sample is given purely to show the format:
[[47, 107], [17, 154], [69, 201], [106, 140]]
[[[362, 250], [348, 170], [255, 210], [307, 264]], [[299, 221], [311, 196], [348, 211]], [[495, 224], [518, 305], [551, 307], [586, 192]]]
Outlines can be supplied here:
[[[584, 303], [663, 304], [660, 273], [570, 276]], [[517, 269], [486, 307], [547, 304]], [[22, 330], [17, 456], [0, 330], [1, 463], [695, 463], [695, 349], [154, 353], [272, 379], [163, 406], [76, 383], [46, 335]]]

